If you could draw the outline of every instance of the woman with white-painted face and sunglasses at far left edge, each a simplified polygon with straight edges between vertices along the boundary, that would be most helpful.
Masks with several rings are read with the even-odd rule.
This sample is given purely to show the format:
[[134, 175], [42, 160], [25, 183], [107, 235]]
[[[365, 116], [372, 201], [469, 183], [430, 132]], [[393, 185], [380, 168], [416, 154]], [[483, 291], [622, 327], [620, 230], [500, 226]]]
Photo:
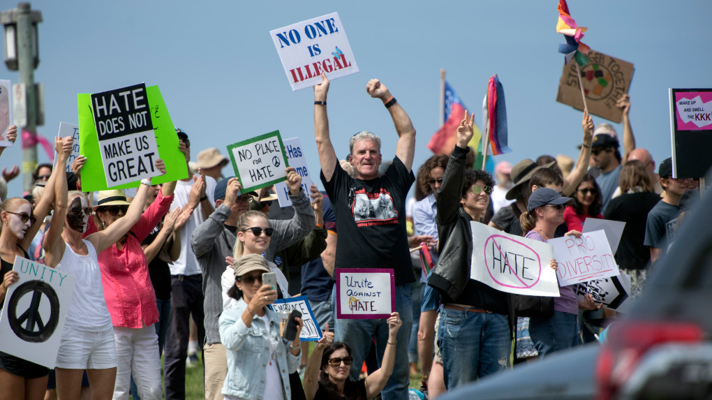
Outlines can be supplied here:
[[[60, 153], [64, 147], [71, 150], [71, 142], [56, 139], [55, 147]], [[15, 257], [30, 258], [27, 249], [54, 199], [53, 185], [59, 169], [52, 172], [48, 181], [51, 189], [45, 191], [46, 196], [34, 210], [21, 197], [0, 204], [0, 306], [10, 286], [19, 280], [18, 273], [12, 270]], [[43, 399], [48, 374], [49, 369], [41, 365], [0, 352], [0, 399]]]

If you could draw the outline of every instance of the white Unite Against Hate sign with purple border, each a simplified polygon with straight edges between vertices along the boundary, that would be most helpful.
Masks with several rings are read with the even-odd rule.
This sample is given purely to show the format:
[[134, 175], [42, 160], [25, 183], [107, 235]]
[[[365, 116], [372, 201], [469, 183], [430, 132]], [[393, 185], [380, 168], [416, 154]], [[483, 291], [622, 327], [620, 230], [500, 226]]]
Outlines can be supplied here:
[[337, 268], [336, 317], [346, 320], [388, 318], [396, 308], [393, 270]]

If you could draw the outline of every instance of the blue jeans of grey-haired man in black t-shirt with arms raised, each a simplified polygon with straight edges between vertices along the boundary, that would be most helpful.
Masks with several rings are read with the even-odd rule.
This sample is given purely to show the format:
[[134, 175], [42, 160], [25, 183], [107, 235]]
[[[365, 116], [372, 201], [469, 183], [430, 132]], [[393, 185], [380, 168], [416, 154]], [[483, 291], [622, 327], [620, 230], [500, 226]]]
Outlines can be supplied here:
[[[336, 290], [336, 285], [334, 285]], [[332, 307], [336, 312], [336, 295], [332, 296]], [[413, 324], [413, 298], [410, 284], [403, 283], [395, 286], [396, 311], [400, 315], [403, 325], [398, 330], [396, 337], [396, 362], [393, 374], [388, 379], [386, 387], [381, 392], [383, 400], [407, 400], [408, 385], [410, 382], [408, 368], [408, 342]], [[388, 324], [386, 320], [340, 320], [336, 319], [335, 339], [345, 342], [352, 349], [354, 359], [351, 364], [351, 378], [355, 381], [361, 371], [363, 360], [366, 359], [371, 347], [371, 339], [376, 340], [376, 354], [379, 364], [383, 360], [383, 353], [388, 342]]]

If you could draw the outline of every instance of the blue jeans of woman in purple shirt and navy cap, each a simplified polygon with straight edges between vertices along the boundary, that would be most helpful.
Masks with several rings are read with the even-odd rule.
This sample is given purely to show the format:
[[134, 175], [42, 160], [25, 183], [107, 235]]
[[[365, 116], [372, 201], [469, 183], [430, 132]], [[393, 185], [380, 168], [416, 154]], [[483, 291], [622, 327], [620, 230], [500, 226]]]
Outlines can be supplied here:
[[529, 336], [539, 357], [580, 344], [576, 314], [554, 311], [551, 318], [530, 318]]

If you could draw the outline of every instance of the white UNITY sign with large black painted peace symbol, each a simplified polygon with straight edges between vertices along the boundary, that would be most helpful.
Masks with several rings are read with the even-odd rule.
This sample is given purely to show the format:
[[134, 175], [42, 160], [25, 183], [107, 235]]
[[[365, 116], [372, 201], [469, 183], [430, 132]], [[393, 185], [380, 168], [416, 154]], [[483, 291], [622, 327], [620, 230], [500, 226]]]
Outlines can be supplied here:
[[76, 278], [22, 257], [0, 315], [0, 351], [54, 368]]

